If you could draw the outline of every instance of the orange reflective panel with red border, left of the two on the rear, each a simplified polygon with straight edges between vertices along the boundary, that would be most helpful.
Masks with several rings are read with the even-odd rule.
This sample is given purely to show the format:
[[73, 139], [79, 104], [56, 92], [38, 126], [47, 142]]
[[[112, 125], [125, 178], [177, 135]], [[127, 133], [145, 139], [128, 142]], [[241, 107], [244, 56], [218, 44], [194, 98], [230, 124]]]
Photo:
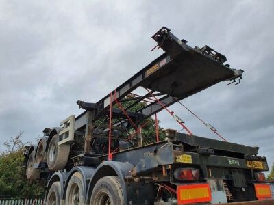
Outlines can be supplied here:
[[177, 186], [177, 203], [210, 202], [211, 191], [209, 184], [188, 184]]

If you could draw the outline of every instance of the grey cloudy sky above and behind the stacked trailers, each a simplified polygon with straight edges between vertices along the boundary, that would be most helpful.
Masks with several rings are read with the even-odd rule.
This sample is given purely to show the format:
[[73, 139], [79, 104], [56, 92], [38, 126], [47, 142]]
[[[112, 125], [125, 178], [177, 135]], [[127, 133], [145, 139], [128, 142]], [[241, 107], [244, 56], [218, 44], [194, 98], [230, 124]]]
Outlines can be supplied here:
[[[191, 46], [208, 45], [245, 70], [184, 104], [228, 141], [274, 159], [274, 1], [0, 1], [0, 148], [24, 131], [42, 136], [97, 102], [162, 54], [163, 25]], [[181, 105], [171, 110], [195, 135], [217, 139]], [[162, 111], [161, 126], [180, 127]]]

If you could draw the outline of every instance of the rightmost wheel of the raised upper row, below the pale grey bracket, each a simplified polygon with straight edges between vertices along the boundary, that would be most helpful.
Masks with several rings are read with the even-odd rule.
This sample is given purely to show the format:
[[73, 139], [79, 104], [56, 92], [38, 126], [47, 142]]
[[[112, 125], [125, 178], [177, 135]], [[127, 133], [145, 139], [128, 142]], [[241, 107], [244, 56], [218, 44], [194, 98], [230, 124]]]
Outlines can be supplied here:
[[50, 170], [64, 169], [69, 159], [69, 144], [58, 145], [58, 135], [54, 135], [47, 150], [47, 166]]

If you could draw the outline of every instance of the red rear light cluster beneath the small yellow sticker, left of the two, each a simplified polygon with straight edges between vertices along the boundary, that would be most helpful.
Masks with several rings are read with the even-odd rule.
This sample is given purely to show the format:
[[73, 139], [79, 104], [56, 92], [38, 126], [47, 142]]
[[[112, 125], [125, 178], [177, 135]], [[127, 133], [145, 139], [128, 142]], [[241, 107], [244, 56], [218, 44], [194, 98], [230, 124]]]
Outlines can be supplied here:
[[174, 171], [174, 178], [182, 181], [199, 180], [199, 169], [194, 168], [179, 168]]

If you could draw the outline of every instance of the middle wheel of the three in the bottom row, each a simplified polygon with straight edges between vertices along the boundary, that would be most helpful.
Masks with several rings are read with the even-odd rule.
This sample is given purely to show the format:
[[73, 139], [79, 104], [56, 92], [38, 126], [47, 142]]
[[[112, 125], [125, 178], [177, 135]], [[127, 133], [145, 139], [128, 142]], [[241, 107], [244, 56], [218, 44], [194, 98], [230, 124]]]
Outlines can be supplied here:
[[84, 204], [84, 179], [80, 172], [75, 172], [66, 188], [66, 204]]

